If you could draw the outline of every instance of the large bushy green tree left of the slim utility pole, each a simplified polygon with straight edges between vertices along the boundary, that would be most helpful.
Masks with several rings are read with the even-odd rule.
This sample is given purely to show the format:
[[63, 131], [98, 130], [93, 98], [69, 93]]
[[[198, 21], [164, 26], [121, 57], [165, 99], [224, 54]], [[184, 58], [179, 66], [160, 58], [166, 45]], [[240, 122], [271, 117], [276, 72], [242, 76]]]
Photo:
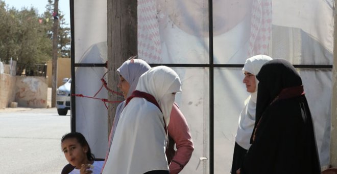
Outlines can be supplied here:
[[32, 64], [51, 58], [47, 50], [51, 41], [42, 32], [38, 14], [34, 8], [18, 11], [0, 2], [0, 57], [8, 61], [12, 57], [18, 63]]

